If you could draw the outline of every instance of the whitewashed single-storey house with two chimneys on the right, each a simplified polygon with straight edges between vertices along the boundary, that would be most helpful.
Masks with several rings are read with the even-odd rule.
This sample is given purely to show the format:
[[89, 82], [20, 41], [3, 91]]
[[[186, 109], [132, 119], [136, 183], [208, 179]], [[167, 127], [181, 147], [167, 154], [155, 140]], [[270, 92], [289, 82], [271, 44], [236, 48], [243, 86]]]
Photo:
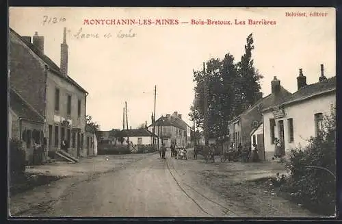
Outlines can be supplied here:
[[[274, 151], [274, 138], [280, 139], [282, 152], [305, 147], [308, 138], [317, 136], [324, 114], [336, 105], [336, 77], [326, 78], [321, 64], [321, 76], [317, 83], [307, 85], [300, 69], [298, 90], [285, 102], [263, 110], [265, 148]], [[269, 159], [269, 158], [267, 158]]]

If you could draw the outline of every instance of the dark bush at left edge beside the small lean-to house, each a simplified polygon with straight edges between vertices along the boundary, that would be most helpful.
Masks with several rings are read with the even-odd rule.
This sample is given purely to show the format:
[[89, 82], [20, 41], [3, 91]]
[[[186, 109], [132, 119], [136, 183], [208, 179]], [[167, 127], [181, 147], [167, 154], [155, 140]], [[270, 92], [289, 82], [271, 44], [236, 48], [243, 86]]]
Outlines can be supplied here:
[[10, 140], [10, 173], [11, 175], [22, 174], [25, 172], [26, 158], [25, 151], [22, 149], [21, 141]]

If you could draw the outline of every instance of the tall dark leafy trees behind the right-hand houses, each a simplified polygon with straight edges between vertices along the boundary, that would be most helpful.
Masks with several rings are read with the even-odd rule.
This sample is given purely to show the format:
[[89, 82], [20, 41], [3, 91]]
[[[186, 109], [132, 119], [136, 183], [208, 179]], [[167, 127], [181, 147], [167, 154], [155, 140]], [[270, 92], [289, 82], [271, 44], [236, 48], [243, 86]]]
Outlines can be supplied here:
[[252, 103], [254, 93], [261, 88], [259, 80], [263, 77], [254, 68], [252, 34], [247, 38], [245, 53], [241, 61], [235, 64], [235, 58], [226, 53], [224, 58], [211, 58], [206, 62], [206, 74], [194, 71], [196, 84], [195, 99], [190, 107], [189, 117], [196, 126], [203, 128], [204, 119], [204, 80], [207, 84], [207, 112], [209, 136], [222, 137], [228, 134], [228, 121], [241, 114]]

